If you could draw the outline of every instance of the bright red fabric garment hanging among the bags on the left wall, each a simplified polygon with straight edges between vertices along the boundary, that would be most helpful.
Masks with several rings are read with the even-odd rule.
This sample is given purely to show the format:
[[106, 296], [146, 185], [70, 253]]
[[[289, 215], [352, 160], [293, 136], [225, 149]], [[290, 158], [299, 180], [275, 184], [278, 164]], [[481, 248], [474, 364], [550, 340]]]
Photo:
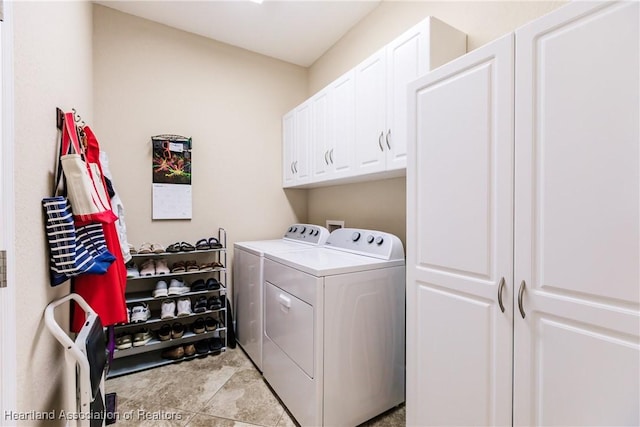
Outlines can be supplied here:
[[[84, 127], [86, 137], [85, 156], [87, 162], [95, 164], [103, 176], [100, 166], [100, 146], [93, 131]], [[106, 192], [104, 180], [103, 190]], [[111, 208], [111, 204], [109, 203]], [[127, 304], [125, 301], [125, 289], [127, 282], [127, 270], [124, 265], [120, 240], [115, 222], [102, 224], [107, 249], [116, 260], [111, 264], [105, 274], [84, 274], [73, 279], [74, 292], [82, 296], [87, 303], [98, 313], [103, 325], [109, 326], [116, 323], [127, 322]], [[84, 323], [84, 311], [77, 305], [74, 307], [72, 330], [79, 331]]]

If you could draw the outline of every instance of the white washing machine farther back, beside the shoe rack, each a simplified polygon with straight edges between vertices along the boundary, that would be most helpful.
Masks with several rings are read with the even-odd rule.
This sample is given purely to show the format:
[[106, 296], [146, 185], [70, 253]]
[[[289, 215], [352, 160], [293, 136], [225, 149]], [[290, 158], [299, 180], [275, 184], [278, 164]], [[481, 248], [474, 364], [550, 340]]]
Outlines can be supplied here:
[[324, 244], [329, 231], [318, 225], [293, 224], [281, 239], [233, 245], [233, 313], [236, 342], [262, 370], [263, 265], [265, 253], [306, 250]]

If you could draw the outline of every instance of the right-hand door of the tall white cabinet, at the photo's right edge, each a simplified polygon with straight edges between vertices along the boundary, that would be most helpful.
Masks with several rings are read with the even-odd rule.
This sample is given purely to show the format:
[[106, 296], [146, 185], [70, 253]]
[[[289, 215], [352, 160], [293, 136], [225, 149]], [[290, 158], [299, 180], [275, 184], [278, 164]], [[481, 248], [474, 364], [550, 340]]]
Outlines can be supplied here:
[[516, 32], [515, 425], [640, 424], [638, 8]]

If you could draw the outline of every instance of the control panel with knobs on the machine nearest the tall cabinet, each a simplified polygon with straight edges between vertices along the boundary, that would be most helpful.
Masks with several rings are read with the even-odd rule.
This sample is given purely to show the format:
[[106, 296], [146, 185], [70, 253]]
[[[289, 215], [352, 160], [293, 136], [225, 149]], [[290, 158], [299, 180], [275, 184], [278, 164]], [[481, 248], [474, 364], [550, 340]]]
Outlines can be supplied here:
[[384, 231], [339, 228], [329, 235], [325, 246], [387, 260], [404, 259], [400, 239]]

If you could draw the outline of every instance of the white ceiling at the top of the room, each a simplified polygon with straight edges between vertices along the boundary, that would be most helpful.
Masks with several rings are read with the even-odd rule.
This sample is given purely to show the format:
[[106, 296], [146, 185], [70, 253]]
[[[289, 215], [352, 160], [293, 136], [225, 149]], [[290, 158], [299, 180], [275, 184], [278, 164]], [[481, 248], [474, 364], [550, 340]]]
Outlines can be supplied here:
[[308, 67], [381, 0], [102, 0], [95, 3]]

